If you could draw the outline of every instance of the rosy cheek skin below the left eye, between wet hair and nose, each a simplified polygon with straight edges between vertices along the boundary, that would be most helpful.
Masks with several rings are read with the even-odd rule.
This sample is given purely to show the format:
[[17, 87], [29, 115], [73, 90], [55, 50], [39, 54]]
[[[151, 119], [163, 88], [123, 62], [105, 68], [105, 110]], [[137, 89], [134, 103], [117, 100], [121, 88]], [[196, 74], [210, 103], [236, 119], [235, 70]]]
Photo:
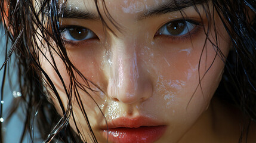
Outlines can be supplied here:
[[[101, 45], [67, 50], [70, 61], [78, 71], [74, 70], [76, 80], [84, 85], [88, 92], [91, 92], [88, 88], [97, 92], [106, 91], [107, 79], [102, 68], [102, 65], [106, 64], [106, 53], [104, 46]], [[103, 93], [99, 95], [104, 97]]]

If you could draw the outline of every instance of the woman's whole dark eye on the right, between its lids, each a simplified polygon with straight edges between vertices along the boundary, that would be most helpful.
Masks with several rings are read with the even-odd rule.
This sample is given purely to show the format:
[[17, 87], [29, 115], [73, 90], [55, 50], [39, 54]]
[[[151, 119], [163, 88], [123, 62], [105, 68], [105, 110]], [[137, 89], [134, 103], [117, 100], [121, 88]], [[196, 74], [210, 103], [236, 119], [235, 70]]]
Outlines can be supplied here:
[[169, 36], [182, 36], [187, 35], [187, 33], [191, 32], [195, 27], [196, 23], [192, 23], [187, 20], [174, 20], [166, 23], [162, 26], [156, 35], [169, 35]]

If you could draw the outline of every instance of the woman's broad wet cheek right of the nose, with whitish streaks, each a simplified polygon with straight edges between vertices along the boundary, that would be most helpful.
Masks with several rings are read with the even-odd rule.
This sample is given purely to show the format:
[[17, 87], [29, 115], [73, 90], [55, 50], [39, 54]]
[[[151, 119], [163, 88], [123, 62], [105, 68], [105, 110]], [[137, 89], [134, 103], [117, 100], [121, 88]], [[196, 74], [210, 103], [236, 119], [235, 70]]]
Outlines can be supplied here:
[[[193, 44], [191, 41], [172, 45], [155, 42], [147, 46], [153, 48], [141, 49], [141, 63], [149, 69], [154, 84], [151, 101], [141, 108], [151, 108], [152, 114], [173, 123], [182, 123], [187, 118], [193, 122], [206, 110], [221, 80], [224, 61], [216, 55], [210, 42], [203, 48], [204, 39], [202, 34], [193, 39]], [[227, 56], [229, 44], [224, 39], [218, 40], [221, 52]]]

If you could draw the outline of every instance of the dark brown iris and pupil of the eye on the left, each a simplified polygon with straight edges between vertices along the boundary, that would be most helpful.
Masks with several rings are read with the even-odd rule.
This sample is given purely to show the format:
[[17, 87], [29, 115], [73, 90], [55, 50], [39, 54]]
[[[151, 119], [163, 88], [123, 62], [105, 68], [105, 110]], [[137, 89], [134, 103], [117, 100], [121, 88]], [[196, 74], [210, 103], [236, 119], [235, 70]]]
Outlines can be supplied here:
[[69, 29], [70, 36], [76, 40], [82, 40], [88, 35], [88, 29], [82, 27], [75, 27]]

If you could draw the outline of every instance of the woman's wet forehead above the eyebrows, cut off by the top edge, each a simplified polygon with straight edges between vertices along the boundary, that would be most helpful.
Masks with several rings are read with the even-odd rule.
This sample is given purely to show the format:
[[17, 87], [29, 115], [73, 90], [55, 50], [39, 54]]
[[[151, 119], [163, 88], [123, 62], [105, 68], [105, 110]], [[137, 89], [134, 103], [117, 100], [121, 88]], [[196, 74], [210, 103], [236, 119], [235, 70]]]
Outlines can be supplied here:
[[[169, 13], [192, 5], [203, 4], [207, 1], [208, 0], [98, 0], [96, 2], [100, 13], [106, 13], [107, 8], [107, 12], [111, 15], [138, 15], [141, 13], [148, 14], [152, 11], [158, 11], [159, 9], [164, 10], [166, 8], [169, 10], [164, 11], [164, 13]], [[94, 0], [63, 0], [60, 2], [60, 6], [63, 6], [63, 4], [65, 4], [67, 10], [85, 10], [97, 14], [97, 7]]]

